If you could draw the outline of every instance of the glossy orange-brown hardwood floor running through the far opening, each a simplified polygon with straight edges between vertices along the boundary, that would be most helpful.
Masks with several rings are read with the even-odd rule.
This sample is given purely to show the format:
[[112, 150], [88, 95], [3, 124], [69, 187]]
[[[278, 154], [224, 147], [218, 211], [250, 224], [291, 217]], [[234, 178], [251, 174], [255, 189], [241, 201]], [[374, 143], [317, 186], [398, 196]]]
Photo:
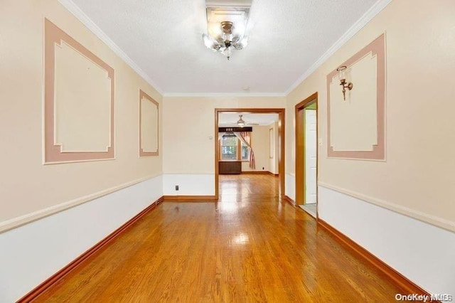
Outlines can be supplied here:
[[220, 176], [220, 202], [165, 202], [35, 302], [395, 302], [402, 289], [278, 199]]

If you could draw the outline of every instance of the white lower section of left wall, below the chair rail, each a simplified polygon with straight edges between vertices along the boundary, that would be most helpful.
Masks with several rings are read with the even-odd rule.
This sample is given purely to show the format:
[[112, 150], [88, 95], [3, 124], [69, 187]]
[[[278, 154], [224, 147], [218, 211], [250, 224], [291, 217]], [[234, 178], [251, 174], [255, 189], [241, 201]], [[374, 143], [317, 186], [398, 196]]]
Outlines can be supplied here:
[[15, 302], [163, 196], [161, 176], [0, 233], [0, 302]]

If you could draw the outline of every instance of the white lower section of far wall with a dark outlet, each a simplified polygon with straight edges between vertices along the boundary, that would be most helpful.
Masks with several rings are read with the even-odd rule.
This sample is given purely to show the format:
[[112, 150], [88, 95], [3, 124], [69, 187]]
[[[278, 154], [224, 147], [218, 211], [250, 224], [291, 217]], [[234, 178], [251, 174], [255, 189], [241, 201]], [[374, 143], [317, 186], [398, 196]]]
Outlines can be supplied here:
[[164, 174], [163, 193], [164, 196], [215, 196], [215, 174]]

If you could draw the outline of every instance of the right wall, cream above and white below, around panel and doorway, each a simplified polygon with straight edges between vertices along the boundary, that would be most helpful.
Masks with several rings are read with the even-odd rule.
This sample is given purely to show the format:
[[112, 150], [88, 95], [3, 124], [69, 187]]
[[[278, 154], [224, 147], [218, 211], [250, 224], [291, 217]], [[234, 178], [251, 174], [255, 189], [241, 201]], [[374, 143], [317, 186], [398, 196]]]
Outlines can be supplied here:
[[[391, 1], [289, 92], [286, 193], [295, 192], [294, 107], [318, 92], [321, 219], [428, 292], [455, 294], [455, 1], [437, 4]], [[328, 158], [326, 77], [384, 33], [386, 159]]]

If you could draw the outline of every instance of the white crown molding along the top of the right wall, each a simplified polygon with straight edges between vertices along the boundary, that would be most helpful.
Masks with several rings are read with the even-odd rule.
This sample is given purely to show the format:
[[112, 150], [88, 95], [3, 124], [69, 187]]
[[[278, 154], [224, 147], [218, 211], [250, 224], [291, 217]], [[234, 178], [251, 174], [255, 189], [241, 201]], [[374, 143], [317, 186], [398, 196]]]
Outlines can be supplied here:
[[326, 53], [323, 53], [323, 55], [321, 55], [321, 57], [319, 57], [319, 59], [316, 60], [316, 62], [313, 63], [313, 65], [311, 65], [310, 68], [306, 70], [306, 72], [288, 88], [284, 95], [289, 95], [292, 90], [299, 86], [299, 84], [308, 78], [309, 75], [314, 73], [314, 71], [317, 70], [319, 66], [326, 62], [326, 60], [330, 58], [331, 55], [333, 55], [339, 48], [341, 48], [341, 46], [348, 42], [350, 38], [353, 38], [353, 36], [358, 33], [358, 31], [360, 31], [363, 26], [365, 26], [368, 22], [371, 21], [371, 19], [378, 15], [380, 11], [385, 8], [385, 6], [390, 4], [390, 2], [392, 2], [392, 0], [378, 0], [378, 2], [371, 6], [371, 8], [368, 9], [368, 11], [366, 11], [366, 13], [363, 14], [363, 16], [361, 16], [360, 19], [358, 19], [358, 21], [353, 24], [353, 26], [350, 26], [348, 31], [346, 31], [343, 36], [341, 36], [335, 43], [333, 43], [330, 48], [328, 48], [328, 50], [326, 50]]

